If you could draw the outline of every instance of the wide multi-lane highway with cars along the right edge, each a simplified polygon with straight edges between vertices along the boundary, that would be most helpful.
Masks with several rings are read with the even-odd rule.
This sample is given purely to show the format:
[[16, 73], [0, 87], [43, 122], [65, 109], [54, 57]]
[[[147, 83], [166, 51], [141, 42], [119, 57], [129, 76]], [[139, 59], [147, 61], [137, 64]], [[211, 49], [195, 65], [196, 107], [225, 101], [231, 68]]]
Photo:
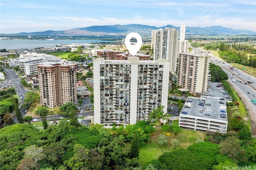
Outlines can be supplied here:
[[[236, 93], [240, 96], [242, 99], [242, 102], [244, 103], [249, 115], [250, 119], [252, 120], [252, 128], [254, 128], [255, 132], [254, 135], [256, 135], [256, 105], [254, 105], [251, 100], [256, 99], [253, 95], [256, 95], [256, 77], [253, 75], [250, 75], [240, 69], [237, 69], [234, 67], [234, 70], [230, 69], [232, 65], [229, 63], [226, 63], [225, 61], [219, 59], [218, 57], [211, 55], [211, 62], [219, 65], [222, 70], [227, 73], [228, 75], [228, 83], [230, 83], [231, 87], [236, 91]], [[232, 82], [232, 76], [235, 79], [235, 82]], [[243, 81], [243, 83], [240, 82]], [[251, 81], [252, 83], [248, 83], [247, 81]], [[244, 84], [247, 83], [247, 84]]]

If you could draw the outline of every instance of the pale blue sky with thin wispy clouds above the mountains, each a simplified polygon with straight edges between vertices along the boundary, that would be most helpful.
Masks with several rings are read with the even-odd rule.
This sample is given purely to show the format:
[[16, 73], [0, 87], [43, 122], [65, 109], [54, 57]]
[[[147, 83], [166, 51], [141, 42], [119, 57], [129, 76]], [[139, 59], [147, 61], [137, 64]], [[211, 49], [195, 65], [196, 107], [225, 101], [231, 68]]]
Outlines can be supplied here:
[[0, 32], [88, 26], [223, 26], [256, 32], [256, 0], [1, 0]]

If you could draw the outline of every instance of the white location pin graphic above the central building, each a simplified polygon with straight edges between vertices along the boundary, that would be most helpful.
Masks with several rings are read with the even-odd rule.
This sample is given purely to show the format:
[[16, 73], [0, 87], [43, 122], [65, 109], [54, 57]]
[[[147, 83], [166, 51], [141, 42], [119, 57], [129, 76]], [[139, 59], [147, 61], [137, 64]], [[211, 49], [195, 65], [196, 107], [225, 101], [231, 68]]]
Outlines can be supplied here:
[[[135, 45], [130, 43], [131, 38], [136, 38], [137, 43]], [[130, 34], [128, 34], [126, 36], [124, 43], [125, 43], [127, 49], [129, 50], [130, 54], [132, 54], [134, 56], [139, 51], [139, 49], [142, 45], [142, 38], [141, 38], [140, 34], [138, 34], [136, 32], [131, 32]]]

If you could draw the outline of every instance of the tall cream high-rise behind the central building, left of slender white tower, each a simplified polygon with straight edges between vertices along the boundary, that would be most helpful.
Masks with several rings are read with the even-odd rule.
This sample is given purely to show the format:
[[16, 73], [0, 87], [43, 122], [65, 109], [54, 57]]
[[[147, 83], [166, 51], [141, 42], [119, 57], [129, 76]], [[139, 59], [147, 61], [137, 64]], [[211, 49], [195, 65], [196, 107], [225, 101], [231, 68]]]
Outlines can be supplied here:
[[169, 61], [169, 71], [176, 75], [178, 58], [178, 30], [165, 28], [152, 31], [154, 42], [154, 60], [159, 58]]

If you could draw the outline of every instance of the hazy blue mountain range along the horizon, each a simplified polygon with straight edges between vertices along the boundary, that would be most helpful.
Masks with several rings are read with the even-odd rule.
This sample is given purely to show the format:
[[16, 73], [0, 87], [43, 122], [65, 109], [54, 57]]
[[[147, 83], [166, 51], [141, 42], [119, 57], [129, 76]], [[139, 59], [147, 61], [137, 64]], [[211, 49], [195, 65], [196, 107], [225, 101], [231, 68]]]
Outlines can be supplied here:
[[[126, 35], [130, 32], [137, 32], [141, 36], [151, 35], [152, 30], [164, 29], [166, 27], [180, 30], [180, 27], [167, 25], [163, 27], [155, 27], [141, 24], [129, 25], [108, 25], [108, 26], [90, 26], [85, 28], [74, 28], [70, 30], [53, 31], [48, 30], [44, 32], [21, 32], [20, 35]], [[210, 27], [186, 27], [186, 35], [256, 35], [256, 32], [250, 30], [234, 30], [232, 28], [225, 28], [222, 26]]]

